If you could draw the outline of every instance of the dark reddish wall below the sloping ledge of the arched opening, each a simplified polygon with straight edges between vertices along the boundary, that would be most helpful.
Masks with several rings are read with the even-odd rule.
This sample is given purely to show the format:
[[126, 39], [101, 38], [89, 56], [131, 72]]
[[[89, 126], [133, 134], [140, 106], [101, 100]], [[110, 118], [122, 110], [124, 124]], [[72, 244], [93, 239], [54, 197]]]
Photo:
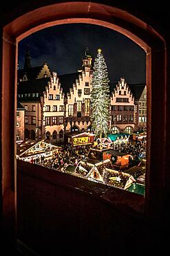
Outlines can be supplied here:
[[17, 166], [18, 239], [39, 255], [128, 255], [131, 246], [140, 255], [141, 243], [149, 255], [158, 253], [160, 232], [142, 216], [143, 196], [23, 161]]

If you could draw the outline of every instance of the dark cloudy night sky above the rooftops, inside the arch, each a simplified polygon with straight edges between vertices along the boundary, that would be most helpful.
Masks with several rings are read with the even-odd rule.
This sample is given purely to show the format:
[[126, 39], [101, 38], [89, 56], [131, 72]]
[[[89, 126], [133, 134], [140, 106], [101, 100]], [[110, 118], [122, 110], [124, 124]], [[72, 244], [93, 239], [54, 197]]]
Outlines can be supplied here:
[[50, 71], [59, 75], [75, 73], [81, 68], [85, 48], [89, 48], [93, 59], [101, 48], [110, 82], [125, 77], [129, 84], [145, 83], [145, 51], [131, 39], [103, 26], [66, 24], [33, 33], [19, 42], [19, 68], [23, 68], [27, 45], [32, 66], [47, 62]]

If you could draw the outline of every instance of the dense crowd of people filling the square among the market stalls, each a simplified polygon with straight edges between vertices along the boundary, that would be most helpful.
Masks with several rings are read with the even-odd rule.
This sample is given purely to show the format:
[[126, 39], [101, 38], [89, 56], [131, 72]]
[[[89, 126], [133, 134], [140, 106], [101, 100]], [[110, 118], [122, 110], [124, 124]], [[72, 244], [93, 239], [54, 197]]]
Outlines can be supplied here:
[[[61, 149], [54, 151], [50, 157], [43, 155], [36, 155], [31, 158], [30, 163], [42, 165], [52, 170], [64, 171], [67, 165], [78, 165], [79, 161], [85, 160], [92, 145], [72, 146], [64, 145]], [[116, 152], [123, 152], [131, 154], [135, 158], [145, 158], [146, 155], [146, 141], [136, 140], [134, 143], [116, 143], [113, 145], [113, 150]]]

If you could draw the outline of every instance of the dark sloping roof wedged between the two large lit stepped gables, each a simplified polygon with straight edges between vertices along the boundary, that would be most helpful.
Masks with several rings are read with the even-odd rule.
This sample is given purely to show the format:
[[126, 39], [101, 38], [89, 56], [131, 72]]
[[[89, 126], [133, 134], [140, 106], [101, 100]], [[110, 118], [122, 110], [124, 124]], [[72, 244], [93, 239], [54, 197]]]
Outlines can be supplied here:
[[73, 84], [76, 83], [76, 79], [78, 79], [78, 72], [69, 73], [65, 75], [58, 75], [59, 82], [61, 83], [61, 87], [63, 88], [63, 92], [70, 93], [70, 88], [73, 87]]

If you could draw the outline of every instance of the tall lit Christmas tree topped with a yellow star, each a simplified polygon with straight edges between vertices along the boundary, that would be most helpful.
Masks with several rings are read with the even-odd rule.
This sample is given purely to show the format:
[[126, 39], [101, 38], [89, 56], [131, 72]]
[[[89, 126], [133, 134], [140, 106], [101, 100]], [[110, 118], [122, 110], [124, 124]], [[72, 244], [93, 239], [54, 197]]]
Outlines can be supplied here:
[[99, 138], [107, 135], [109, 129], [109, 77], [105, 59], [98, 49], [92, 76], [92, 128]]

